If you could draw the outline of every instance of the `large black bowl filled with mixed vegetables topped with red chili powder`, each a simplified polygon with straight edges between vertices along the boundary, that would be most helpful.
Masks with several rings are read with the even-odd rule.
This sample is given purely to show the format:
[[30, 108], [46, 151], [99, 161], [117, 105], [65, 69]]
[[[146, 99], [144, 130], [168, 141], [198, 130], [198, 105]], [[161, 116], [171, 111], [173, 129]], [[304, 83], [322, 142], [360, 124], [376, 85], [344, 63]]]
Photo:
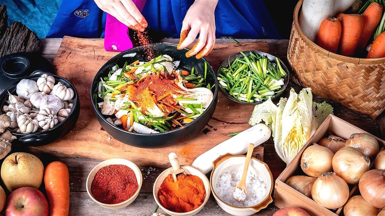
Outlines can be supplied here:
[[187, 58], [187, 51], [151, 44], [107, 62], [91, 86], [103, 128], [120, 142], [140, 147], [173, 144], [203, 129], [216, 106], [216, 76], [204, 59]]

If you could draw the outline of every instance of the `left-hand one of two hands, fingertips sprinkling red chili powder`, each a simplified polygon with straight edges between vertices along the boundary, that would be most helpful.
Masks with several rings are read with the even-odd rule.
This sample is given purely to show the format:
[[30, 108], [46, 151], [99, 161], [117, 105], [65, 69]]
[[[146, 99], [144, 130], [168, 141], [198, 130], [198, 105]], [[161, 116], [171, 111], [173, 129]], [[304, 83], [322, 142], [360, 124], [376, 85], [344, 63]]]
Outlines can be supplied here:
[[143, 32], [147, 21], [132, 0], [94, 0], [106, 13], [133, 30]]

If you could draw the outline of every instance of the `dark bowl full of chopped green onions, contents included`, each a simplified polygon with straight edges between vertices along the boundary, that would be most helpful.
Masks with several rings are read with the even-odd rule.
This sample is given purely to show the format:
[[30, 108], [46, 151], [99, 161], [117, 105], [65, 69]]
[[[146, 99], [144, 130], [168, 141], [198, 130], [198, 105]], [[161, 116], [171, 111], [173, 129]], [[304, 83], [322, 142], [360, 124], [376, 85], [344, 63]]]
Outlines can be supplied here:
[[289, 70], [283, 62], [261, 51], [231, 55], [218, 69], [219, 88], [237, 103], [260, 104], [277, 98], [289, 83]]

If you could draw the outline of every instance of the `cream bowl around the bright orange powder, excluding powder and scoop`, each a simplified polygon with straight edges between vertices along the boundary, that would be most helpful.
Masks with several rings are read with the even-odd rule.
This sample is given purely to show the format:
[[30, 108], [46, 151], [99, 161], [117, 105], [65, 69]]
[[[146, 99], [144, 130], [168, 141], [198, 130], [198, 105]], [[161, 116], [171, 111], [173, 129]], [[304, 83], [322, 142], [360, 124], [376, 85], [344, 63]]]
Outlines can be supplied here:
[[196, 168], [194, 168], [192, 166], [181, 165], [180, 167], [185, 170], [185, 174], [191, 174], [191, 175], [197, 176], [197, 177], [199, 177], [203, 181], [204, 187], [206, 189], [206, 196], [204, 198], [204, 201], [203, 201], [202, 205], [200, 205], [198, 208], [196, 208], [196, 209], [194, 209], [194, 210], [192, 210], [190, 212], [178, 213], [178, 212], [172, 212], [172, 211], [164, 208], [160, 204], [159, 199], [158, 199], [158, 191], [159, 191], [160, 185], [163, 183], [164, 179], [168, 176], [168, 174], [171, 174], [172, 171], [174, 170], [172, 167], [170, 167], [170, 168], [166, 169], [165, 171], [163, 171], [158, 176], [158, 178], [156, 178], [156, 180], [154, 182], [154, 188], [153, 188], [154, 199], [155, 199], [156, 204], [158, 204], [158, 206], [165, 213], [167, 213], [167, 214], [169, 214], [171, 216], [192, 216], [192, 215], [195, 215], [196, 213], [198, 213], [203, 208], [203, 206], [207, 203], [207, 201], [208, 201], [208, 199], [210, 197], [210, 181], [207, 179], [206, 175], [204, 175], [202, 172], [200, 172], [198, 169], [196, 169]]

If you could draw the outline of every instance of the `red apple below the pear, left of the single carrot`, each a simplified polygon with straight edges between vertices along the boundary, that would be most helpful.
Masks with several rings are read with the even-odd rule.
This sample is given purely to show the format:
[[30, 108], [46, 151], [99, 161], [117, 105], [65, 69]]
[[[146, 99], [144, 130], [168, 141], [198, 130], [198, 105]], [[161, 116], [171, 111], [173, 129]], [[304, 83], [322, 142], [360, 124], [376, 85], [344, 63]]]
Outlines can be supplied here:
[[48, 201], [34, 187], [20, 187], [7, 198], [5, 216], [48, 216]]

